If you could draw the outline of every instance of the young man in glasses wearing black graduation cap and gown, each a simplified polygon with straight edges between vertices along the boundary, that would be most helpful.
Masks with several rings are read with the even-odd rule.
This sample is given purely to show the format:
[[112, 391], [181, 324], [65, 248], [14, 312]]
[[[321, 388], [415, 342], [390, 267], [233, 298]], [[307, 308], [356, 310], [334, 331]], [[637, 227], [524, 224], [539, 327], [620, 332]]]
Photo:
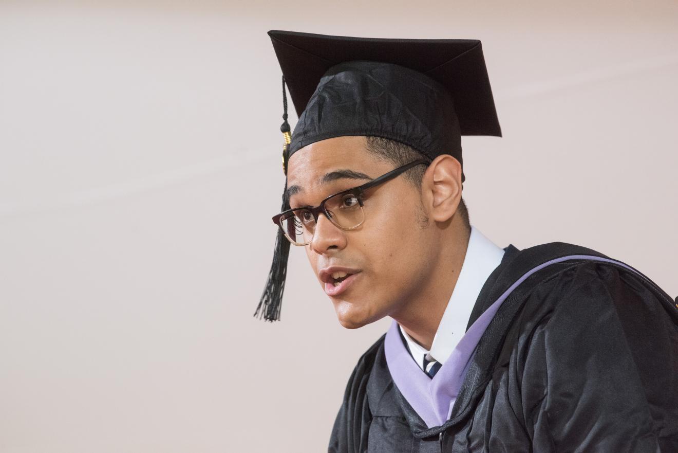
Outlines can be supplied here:
[[[500, 135], [479, 41], [269, 32], [300, 115], [257, 313], [290, 244], [359, 359], [330, 452], [678, 452], [678, 305], [574, 244], [500, 248], [471, 225], [460, 137]], [[283, 82], [283, 96], [285, 88]]]

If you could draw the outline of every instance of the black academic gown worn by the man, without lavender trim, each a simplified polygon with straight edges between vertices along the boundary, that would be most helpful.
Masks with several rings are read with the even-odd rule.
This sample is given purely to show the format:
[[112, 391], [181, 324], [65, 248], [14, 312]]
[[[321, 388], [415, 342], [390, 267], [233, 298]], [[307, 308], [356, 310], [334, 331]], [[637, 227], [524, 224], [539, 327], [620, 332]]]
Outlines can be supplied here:
[[[605, 256], [509, 245], [468, 326], [531, 268], [532, 251], [554, 245]], [[678, 453], [675, 302], [605, 262], [536, 272], [494, 315], [441, 427], [427, 427], [395, 386], [382, 336], [348, 380], [329, 452]]]

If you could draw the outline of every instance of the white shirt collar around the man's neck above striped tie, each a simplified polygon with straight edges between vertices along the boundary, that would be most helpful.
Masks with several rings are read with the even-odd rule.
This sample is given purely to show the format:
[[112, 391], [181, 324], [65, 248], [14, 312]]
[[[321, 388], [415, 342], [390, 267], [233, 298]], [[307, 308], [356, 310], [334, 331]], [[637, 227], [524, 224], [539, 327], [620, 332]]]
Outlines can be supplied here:
[[420, 368], [424, 369], [426, 355], [428, 355], [426, 357], [428, 361], [435, 360], [441, 364], [450, 357], [459, 340], [466, 333], [466, 325], [468, 319], [471, 318], [471, 311], [473, 311], [480, 290], [492, 271], [499, 266], [503, 256], [504, 249], [498, 247], [471, 225], [471, 236], [468, 238], [464, 263], [452, 290], [452, 297], [447, 302], [447, 307], [433, 337], [431, 350], [426, 350], [412, 340], [403, 327], [400, 327], [407, 346], [412, 352], [412, 357]]

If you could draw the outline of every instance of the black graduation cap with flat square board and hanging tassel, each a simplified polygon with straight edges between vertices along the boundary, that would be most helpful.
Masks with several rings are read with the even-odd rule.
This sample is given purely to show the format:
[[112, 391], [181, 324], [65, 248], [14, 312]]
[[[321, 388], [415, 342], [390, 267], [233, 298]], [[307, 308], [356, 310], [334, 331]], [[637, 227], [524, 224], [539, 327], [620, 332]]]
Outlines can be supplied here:
[[[283, 72], [283, 172], [302, 147], [346, 135], [404, 143], [428, 160], [462, 163], [462, 135], [501, 129], [477, 39], [386, 39], [271, 30]], [[290, 134], [287, 95], [299, 120]], [[465, 180], [462, 170], [462, 182]], [[285, 178], [285, 188], [287, 179]], [[281, 211], [290, 209], [285, 192]], [[288, 241], [278, 229], [273, 264], [255, 316], [280, 318]]]

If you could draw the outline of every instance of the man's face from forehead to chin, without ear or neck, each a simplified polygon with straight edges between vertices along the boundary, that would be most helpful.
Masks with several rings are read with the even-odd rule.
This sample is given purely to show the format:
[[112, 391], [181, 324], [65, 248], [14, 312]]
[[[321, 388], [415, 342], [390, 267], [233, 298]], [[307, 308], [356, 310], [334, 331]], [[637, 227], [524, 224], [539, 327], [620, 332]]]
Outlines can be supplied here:
[[[317, 206], [327, 196], [394, 168], [365, 149], [365, 137], [312, 143], [290, 158], [287, 187], [298, 186], [290, 206]], [[327, 173], [346, 170], [353, 175], [321, 183]], [[425, 209], [420, 196], [401, 174], [365, 192], [365, 220], [355, 230], [342, 230], [325, 215], [319, 216], [313, 240], [304, 249], [344, 327], [361, 327], [403, 309], [431, 274], [435, 237], [431, 228], [422, 228]], [[332, 274], [336, 268], [353, 275], [335, 287], [323, 279], [331, 280], [327, 272]]]

